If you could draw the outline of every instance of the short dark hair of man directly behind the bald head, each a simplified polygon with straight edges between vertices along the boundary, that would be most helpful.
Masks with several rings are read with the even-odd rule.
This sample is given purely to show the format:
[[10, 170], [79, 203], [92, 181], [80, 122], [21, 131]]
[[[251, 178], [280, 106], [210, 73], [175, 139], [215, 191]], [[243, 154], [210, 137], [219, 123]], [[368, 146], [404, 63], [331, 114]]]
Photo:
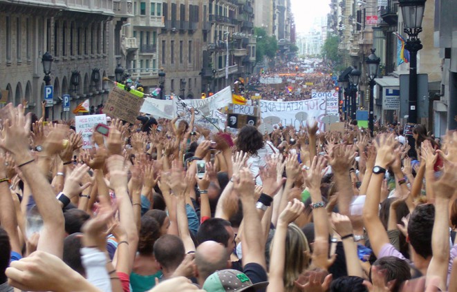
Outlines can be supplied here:
[[221, 218], [210, 218], [205, 220], [205, 222], [200, 225], [200, 228], [198, 228], [198, 244], [212, 240], [227, 247], [227, 243], [230, 240], [230, 234], [227, 229], [225, 229], [227, 226], [231, 226], [230, 222]]

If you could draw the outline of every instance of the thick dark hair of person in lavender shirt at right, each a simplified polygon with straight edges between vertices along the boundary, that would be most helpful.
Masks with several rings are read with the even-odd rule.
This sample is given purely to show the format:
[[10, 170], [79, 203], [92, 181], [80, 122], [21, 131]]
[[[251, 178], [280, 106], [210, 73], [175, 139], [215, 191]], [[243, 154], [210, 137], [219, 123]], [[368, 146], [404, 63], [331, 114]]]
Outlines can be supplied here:
[[435, 220], [435, 206], [422, 204], [414, 209], [409, 217], [408, 236], [409, 243], [414, 251], [425, 259], [431, 257], [431, 233]]

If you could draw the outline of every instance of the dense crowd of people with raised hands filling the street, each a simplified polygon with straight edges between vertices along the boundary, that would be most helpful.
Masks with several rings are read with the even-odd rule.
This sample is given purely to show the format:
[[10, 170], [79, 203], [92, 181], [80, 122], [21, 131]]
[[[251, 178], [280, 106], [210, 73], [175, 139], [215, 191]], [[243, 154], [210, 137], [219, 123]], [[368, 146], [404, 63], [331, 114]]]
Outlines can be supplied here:
[[457, 133], [0, 115], [0, 291], [457, 291]]

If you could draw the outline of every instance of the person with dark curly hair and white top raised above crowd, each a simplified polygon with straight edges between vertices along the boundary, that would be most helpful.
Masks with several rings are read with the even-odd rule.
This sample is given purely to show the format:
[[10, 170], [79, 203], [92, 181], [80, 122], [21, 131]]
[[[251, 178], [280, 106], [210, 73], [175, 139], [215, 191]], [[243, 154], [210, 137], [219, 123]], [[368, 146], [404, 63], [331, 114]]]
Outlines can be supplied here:
[[265, 158], [279, 153], [279, 150], [271, 142], [264, 142], [262, 134], [254, 126], [244, 126], [241, 128], [236, 139], [236, 148], [239, 151], [248, 153], [250, 171], [256, 177], [256, 184], [261, 185], [262, 181], [258, 174], [260, 168], [266, 165]]

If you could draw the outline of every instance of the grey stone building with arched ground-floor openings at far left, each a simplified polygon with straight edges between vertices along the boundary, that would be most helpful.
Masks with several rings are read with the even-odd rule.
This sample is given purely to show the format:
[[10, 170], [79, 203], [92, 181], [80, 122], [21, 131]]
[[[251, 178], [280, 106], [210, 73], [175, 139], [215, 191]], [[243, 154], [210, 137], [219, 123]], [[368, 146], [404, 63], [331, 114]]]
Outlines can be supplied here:
[[53, 55], [50, 84], [54, 106], [50, 119], [71, 117], [62, 96], [71, 95], [71, 108], [90, 99], [106, 101], [113, 76], [113, 0], [0, 0], [0, 80], [8, 90], [4, 102], [27, 101], [27, 111], [41, 115], [44, 72], [41, 57]]

